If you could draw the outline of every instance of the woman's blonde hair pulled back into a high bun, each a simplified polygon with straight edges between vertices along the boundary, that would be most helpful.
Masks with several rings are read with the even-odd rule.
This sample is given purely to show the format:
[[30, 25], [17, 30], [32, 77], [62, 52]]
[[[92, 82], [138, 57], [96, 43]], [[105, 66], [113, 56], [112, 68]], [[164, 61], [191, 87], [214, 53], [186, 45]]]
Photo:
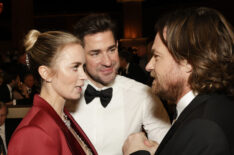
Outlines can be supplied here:
[[81, 41], [74, 35], [62, 31], [28, 32], [24, 40], [26, 63], [38, 81], [41, 81], [39, 66], [51, 67], [57, 53], [68, 44], [81, 45]]

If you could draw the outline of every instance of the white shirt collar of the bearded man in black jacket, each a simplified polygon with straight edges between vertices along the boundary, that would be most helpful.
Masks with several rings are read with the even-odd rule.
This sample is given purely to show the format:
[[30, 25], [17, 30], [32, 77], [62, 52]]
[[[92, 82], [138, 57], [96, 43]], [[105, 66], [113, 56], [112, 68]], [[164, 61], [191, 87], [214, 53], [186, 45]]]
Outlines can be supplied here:
[[197, 96], [197, 93], [194, 93], [191, 90], [179, 100], [179, 102], [176, 105], [177, 118], [196, 96]]

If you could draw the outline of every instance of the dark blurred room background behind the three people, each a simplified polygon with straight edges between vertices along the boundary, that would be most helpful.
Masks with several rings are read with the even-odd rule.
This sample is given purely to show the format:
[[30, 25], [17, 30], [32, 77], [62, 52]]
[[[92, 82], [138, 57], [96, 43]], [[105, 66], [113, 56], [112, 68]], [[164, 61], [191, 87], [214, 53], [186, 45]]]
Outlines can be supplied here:
[[[30, 90], [27, 102], [22, 106], [10, 106], [7, 118], [15, 129], [32, 105], [32, 98], [38, 92], [37, 82], [28, 74], [25, 64], [23, 39], [30, 29], [41, 32], [62, 30], [72, 32], [73, 25], [89, 13], [108, 13], [118, 24], [120, 58], [130, 53], [131, 62], [139, 65], [146, 77], [141, 81], [151, 85], [152, 78], [144, 68], [150, 58], [152, 41], [155, 36], [154, 24], [163, 14], [187, 7], [205, 6], [219, 10], [234, 25], [234, 0], [0, 0], [0, 86], [9, 81], [9, 75], [20, 77], [19, 94]], [[122, 53], [122, 54], [121, 54]], [[130, 56], [129, 56], [130, 57]], [[126, 59], [127, 60], [127, 59]], [[129, 61], [130, 62], [130, 61]], [[122, 74], [121, 74], [122, 75]], [[16, 76], [15, 76], [16, 77]], [[28, 78], [29, 77], [29, 78]], [[31, 77], [31, 78], [30, 78]], [[33, 87], [27, 85], [33, 81]], [[13, 79], [14, 80], [14, 79]], [[136, 79], [137, 80], [137, 79]], [[15, 86], [17, 88], [17, 86]], [[35, 91], [33, 91], [35, 90]], [[26, 91], [27, 93], [29, 91]], [[34, 93], [32, 93], [34, 92]], [[0, 94], [1, 96], [1, 94]], [[14, 95], [15, 96], [15, 95]], [[23, 95], [25, 96], [25, 95]], [[163, 102], [165, 103], [165, 102]], [[173, 118], [173, 106], [167, 106]]]

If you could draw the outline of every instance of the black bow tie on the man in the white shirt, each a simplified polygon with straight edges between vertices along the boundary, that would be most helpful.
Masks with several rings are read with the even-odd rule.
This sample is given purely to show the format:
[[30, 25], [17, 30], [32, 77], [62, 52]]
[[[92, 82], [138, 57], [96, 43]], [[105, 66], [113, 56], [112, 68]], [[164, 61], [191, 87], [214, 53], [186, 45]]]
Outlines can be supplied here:
[[101, 104], [105, 108], [111, 101], [112, 91], [112, 88], [97, 91], [91, 85], [88, 85], [84, 93], [85, 101], [89, 104], [95, 97], [100, 97]]

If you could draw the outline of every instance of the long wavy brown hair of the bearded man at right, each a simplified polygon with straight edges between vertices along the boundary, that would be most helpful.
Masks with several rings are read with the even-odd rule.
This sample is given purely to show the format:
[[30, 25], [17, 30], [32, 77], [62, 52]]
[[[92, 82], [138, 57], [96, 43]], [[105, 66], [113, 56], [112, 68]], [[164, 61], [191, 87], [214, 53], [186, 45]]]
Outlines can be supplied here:
[[192, 90], [234, 96], [233, 27], [220, 12], [178, 10], [161, 18], [155, 29], [175, 61], [191, 64]]

